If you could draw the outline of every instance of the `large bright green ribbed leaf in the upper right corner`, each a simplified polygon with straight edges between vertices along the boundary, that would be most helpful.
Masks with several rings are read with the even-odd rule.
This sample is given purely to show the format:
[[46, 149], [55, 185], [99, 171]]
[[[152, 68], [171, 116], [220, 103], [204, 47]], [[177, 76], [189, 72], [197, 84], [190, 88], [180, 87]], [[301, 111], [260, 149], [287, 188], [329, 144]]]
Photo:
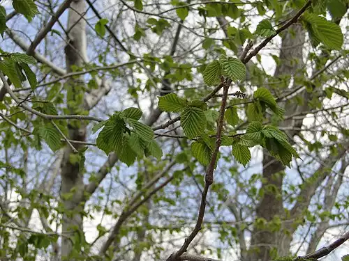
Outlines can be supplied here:
[[304, 15], [306, 28], [313, 43], [322, 42], [329, 49], [341, 49], [343, 45], [343, 33], [341, 27], [334, 22], [327, 21], [325, 17], [306, 13]]

